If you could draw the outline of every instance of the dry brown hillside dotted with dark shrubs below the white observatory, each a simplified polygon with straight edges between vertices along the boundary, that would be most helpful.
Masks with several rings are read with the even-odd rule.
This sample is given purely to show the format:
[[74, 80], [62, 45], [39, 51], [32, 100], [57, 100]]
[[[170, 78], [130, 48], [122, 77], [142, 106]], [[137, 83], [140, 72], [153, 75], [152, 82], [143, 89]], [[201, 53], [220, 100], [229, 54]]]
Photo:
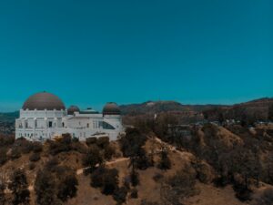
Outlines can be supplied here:
[[[41, 145], [23, 138], [14, 141], [13, 138], [1, 137], [0, 185], [1, 180], [6, 184], [12, 180], [14, 171], [20, 168], [25, 170], [32, 205], [36, 204], [37, 190], [42, 185], [46, 185], [46, 189], [41, 193], [49, 198], [54, 192], [48, 192], [51, 194], [47, 195], [47, 191], [57, 193], [65, 189], [66, 193], [66, 189], [76, 185], [76, 195], [72, 194], [72, 199], [68, 197], [68, 200], [56, 203], [66, 205], [122, 204], [116, 203], [117, 200], [126, 200], [126, 204], [132, 205], [161, 205], [165, 204], [165, 200], [181, 200], [184, 205], [226, 205], [227, 201], [228, 205], [263, 205], [255, 203], [253, 199], [260, 200], [265, 190], [271, 191], [269, 184], [273, 183], [273, 172], [268, 167], [273, 165], [273, 161], [268, 159], [271, 154], [273, 156], [273, 129], [265, 127], [261, 132], [260, 128], [256, 128], [250, 132], [248, 128], [238, 126], [223, 128], [207, 124], [190, 130], [191, 137], [183, 138], [178, 133], [168, 132], [167, 136], [161, 137], [160, 133], [145, 134], [131, 128], [127, 130], [126, 136], [110, 143], [106, 138], [89, 138], [86, 142], [78, 142], [66, 135], [58, 141], [47, 141]], [[261, 172], [258, 186], [256, 172], [251, 171], [257, 165], [254, 163], [255, 158], [251, 157], [252, 151], [256, 150], [253, 145], [259, 145]], [[132, 162], [135, 158], [128, 157], [133, 153], [137, 159], [135, 162]], [[99, 167], [96, 165], [95, 171], [90, 174], [90, 167], [83, 169], [86, 168], [84, 162], [90, 157], [97, 160], [98, 155], [103, 156], [104, 163]], [[167, 159], [163, 160], [164, 155]], [[163, 162], [165, 169], [161, 167]], [[130, 177], [132, 163], [136, 163], [138, 176], [134, 186], [131, 185], [133, 179]], [[234, 164], [239, 167], [234, 167]], [[247, 166], [246, 169], [244, 166]], [[104, 169], [115, 170], [111, 172], [114, 175], [109, 172], [109, 175], [105, 173], [101, 178]], [[245, 189], [241, 178], [245, 171], [248, 171], [246, 176], [249, 178], [247, 192], [240, 190]], [[233, 173], [233, 178], [226, 178], [227, 173]], [[115, 175], [117, 178], [112, 178]], [[100, 184], [104, 178], [107, 179], [107, 189], [111, 190], [112, 183], [117, 183], [115, 189], [118, 191], [106, 194], [101, 185], [94, 185], [95, 179]], [[73, 185], [75, 179], [76, 184]], [[69, 184], [67, 188], [66, 183]], [[9, 190], [5, 190], [5, 195], [7, 200], [12, 199]], [[50, 199], [57, 200], [57, 196], [53, 196]]]

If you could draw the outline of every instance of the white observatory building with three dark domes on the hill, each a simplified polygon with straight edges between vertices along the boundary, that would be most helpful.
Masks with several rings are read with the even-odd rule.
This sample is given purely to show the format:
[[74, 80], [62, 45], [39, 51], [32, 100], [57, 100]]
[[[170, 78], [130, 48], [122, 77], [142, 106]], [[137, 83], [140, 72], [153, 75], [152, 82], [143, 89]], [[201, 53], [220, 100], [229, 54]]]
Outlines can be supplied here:
[[47, 92], [26, 99], [15, 121], [15, 137], [32, 141], [45, 141], [66, 133], [79, 140], [100, 136], [116, 140], [123, 131], [116, 103], [107, 103], [102, 113], [92, 108], [80, 110], [76, 106], [66, 109], [59, 97]]

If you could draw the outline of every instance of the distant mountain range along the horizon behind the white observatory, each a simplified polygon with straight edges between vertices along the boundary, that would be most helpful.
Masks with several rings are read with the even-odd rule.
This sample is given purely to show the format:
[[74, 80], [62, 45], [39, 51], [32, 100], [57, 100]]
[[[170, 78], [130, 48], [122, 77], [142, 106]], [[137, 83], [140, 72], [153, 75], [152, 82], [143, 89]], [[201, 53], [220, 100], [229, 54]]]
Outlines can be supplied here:
[[[273, 97], [264, 97], [251, 100], [245, 103], [235, 105], [184, 105], [176, 101], [147, 101], [140, 104], [130, 104], [120, 106], [121, 113], [126, 116], [136, 116], [145, 114], [156, 114], [161, 112], [181, 112], [181, 113], [201, 113], [206, 110], [221, 109], [227, 116], [234, 118], [241, 115], [242, 112], [247, 114], [258, 114], [267, 118], [268, 108], [273, 106]], [[19, 117], [19, 111], [10, 113], [0, 113], [0, 123], [15, 122]]]

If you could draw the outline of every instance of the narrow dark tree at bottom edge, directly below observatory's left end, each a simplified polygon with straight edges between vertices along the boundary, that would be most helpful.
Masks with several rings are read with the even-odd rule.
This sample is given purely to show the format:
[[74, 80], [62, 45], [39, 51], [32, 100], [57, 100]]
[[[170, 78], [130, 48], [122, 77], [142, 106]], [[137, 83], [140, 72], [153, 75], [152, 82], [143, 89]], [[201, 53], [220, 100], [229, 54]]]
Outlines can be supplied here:
[[30, 192], [28, 190], [28, 183], [25, 177], [25, 172], [22, 169], [16, 169], [11, 176], [11, 182], [8, 186], [12, 191], [14, 205], [29, 204]]

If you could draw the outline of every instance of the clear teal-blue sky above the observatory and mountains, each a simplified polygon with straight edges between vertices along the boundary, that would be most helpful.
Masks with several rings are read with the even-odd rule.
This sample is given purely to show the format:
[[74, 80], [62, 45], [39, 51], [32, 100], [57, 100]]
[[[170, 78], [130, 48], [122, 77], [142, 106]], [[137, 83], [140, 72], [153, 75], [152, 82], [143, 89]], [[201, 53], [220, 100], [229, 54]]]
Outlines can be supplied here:
[[0, 71], [0, 111], [273, 97], [273, 1], [1, 1]]

